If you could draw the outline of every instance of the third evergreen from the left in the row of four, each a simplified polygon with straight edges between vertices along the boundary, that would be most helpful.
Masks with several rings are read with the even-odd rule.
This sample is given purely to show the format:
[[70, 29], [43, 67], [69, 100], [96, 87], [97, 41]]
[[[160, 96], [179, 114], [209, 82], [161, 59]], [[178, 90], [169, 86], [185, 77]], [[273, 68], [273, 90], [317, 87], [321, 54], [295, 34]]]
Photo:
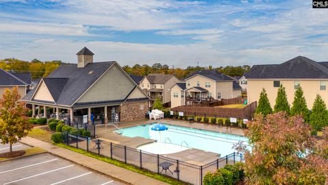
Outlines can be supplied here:
[[290, 109], [290, 114], [295, 116], [301, 114], [305, 122], [309, 122], [310, 112], [306, 106], [305, 97], [303, 95], [303, 90], [301, 86], [295, 90], [294, 101], [292, 102], [292, 108]]

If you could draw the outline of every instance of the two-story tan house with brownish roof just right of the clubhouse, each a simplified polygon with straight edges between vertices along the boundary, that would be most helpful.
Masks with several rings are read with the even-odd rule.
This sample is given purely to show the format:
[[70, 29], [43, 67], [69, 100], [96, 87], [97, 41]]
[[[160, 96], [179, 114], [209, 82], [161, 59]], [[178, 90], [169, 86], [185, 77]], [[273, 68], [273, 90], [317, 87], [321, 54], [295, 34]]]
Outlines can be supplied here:
[[180, 82], [180, 79], [174, 75], [151, 74], [144, 76], [139, 86], [146, 92], [150, 99], [154, 100], [156, 97], [159, 97], [164, 104], [171, 101], [169, 88], [176, 84], [176, 82]]

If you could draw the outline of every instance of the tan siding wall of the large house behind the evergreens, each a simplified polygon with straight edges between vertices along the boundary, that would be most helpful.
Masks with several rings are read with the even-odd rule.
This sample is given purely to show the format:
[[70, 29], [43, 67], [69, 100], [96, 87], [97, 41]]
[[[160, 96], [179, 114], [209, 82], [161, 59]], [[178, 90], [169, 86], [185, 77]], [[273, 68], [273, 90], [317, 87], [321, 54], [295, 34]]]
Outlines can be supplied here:
[[[306, 103], [308, 104], [308, 108], [312, 109], [314, 99], [316, 95], [319, 94], [323, 97], [326, 105], [328, 105], [328, 79], [327, 79], [327, 90], [320, 90], [320, 80], [319, 79], [295, 79], [299, 81], [301, 87], [304, 91], [304, 96], [306, 99]], [[280, 84], [282, 84], [286, 88], [286, 94], [288, 98], [288, 102], [290, 105], [292, 101], [294, 101], [294, 79], [284, 79], [280, 80]], [[275, 106], [275, 98], [277, 97], [278, 88], [273, 87], [273, 79], [248, 79], [247, 80], [247, 97], [248, 102], [251, 103], [253, 101], [258, 101], [260, 97], [260, 93], [262, 88], [267, 90], [268, 98], [271, 104], [271, 107]]]

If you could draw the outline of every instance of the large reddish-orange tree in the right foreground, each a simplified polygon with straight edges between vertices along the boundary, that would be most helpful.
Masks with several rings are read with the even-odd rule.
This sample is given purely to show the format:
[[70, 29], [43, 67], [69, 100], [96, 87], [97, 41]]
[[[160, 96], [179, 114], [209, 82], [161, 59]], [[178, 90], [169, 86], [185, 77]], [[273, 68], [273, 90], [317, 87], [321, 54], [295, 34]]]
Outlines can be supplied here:
[[301, 116], [262, 114], [247, 123], [253, 146], [245, 152], [248, 184], [325, 184], [328, 174], [328, 128], [323, 140], [310, 135]]

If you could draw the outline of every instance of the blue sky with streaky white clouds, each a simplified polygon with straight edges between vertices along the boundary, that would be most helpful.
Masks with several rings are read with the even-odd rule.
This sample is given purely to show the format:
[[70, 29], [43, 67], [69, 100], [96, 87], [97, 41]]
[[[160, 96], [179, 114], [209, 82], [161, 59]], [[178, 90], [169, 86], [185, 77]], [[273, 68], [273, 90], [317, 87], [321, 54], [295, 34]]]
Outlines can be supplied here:
[[0, 0], [0, 58], [178, 67], [328, 61], [328, 9], [311, 0]]

